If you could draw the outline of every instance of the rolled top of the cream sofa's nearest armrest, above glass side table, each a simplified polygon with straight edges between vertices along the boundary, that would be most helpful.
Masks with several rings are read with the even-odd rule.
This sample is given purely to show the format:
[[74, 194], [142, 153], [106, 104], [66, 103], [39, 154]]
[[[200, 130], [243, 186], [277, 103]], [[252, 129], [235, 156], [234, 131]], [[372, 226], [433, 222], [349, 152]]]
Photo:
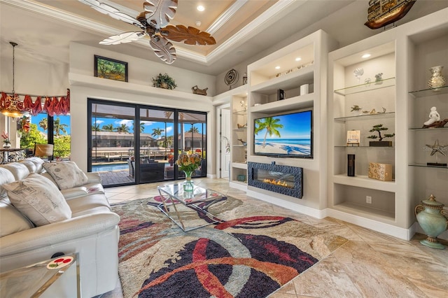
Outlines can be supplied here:
[[0, 238], [0, 257], [101, 234], [116, 227], [118, 222], [120, 216], [116, 213], [102, 211], [3, 236]]

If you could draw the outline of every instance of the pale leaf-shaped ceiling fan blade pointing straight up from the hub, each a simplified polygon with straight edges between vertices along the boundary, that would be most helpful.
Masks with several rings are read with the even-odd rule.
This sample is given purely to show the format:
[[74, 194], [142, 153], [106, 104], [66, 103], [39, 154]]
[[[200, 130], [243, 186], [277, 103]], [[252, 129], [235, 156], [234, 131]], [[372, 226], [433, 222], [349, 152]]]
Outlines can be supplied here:
[[143, 7], [146, 11], [146, 23], [160, 30], [174, 18], [177, 0], [146, 0]]

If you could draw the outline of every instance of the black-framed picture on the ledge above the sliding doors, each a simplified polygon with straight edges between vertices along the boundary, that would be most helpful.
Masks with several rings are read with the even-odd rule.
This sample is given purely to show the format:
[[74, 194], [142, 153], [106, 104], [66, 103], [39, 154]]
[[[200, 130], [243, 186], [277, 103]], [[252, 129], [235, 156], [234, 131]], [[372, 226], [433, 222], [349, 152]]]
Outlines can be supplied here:
[[94, 76], [127, 82], [127, 62], [94, 55]]

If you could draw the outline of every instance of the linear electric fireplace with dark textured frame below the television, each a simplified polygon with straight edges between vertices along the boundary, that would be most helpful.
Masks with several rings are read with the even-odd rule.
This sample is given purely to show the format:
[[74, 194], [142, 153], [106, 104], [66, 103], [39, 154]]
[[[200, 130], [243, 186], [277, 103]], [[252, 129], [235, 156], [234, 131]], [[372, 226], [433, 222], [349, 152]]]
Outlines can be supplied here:
[[248, 185], [302, 199], [303, 168], [281, 166], [275, 162], [272, 164], [248, 162], [247, 167]]

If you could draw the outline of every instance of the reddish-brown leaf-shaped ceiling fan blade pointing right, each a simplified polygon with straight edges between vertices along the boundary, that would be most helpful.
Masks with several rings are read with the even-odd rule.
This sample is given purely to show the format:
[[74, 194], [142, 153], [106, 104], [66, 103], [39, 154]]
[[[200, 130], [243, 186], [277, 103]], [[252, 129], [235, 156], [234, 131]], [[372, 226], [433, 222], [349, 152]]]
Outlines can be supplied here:
[[205, 31], [200, 31], [195, 27], [185, 27], [183, 25], [169, 25], [160, 29], [160, 34], [172, 41], [183, 42], [187, 45], [214, 45], [215, 38]]

